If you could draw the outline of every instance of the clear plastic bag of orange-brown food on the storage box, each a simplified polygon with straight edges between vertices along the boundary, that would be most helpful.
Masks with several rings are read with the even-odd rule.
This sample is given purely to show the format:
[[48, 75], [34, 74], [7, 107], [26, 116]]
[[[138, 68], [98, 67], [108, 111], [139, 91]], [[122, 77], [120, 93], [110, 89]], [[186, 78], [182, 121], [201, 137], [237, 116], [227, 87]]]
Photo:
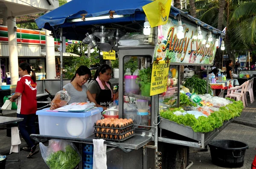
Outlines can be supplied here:
[[70, 101], [70, 95], [67, 93], [67, 91], [61, 90], [57, 92], [55, 97], [53, 98], [50, 110], [63, 107], [67, 105], [69, 101]]

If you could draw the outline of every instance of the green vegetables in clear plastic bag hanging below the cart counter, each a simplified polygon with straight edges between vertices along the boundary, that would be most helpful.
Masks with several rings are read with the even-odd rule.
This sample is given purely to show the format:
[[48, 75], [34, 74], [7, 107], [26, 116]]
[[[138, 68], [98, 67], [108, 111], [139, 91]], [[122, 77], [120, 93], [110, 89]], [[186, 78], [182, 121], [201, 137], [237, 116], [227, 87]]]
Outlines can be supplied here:
[[80, 155], [70, 145], [65, 150], [54, 152], [46, 159], [50, 169], [73, 169], [80, 162]]

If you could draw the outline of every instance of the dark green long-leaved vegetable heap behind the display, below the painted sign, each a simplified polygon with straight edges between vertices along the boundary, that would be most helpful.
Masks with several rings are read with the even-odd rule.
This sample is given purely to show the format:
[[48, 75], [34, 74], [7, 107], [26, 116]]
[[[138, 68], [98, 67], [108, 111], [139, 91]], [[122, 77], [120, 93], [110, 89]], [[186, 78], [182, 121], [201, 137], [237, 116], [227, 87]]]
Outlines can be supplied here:
[[[190, 92], [192, 93], [196, 93], [198, 95], [206, 94], [206, 89], [207, 89], [206, 80], [198, 78], [197, 75], [187, 78], [184, 83], [184, 86], [189, 88]], [[208, 91], [209, 93], [212, 93], [212, 88], [210, 87], [210, 85], [208, 86]]]

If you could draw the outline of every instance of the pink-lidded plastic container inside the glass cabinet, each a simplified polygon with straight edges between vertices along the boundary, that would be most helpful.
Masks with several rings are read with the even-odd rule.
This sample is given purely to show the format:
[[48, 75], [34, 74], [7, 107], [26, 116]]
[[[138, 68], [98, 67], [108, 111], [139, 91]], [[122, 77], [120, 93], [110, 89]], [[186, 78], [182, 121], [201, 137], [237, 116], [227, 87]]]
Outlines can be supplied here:
[[125, 92], [139, 95], [140, 86], [136, 83], [138, 76], [126, 75], [125, 76]]

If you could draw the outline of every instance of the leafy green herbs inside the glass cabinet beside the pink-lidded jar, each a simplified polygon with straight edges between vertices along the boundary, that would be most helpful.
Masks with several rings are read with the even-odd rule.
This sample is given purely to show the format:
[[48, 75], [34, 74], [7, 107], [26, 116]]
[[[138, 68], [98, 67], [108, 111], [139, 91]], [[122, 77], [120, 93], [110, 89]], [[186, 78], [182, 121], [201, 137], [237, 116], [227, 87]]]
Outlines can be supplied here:
[[140, 90], [143, 90], [145, 84], [151, 82], [151, 68], [140, 70], [138, 76], [136, 83], [140, 84]]

